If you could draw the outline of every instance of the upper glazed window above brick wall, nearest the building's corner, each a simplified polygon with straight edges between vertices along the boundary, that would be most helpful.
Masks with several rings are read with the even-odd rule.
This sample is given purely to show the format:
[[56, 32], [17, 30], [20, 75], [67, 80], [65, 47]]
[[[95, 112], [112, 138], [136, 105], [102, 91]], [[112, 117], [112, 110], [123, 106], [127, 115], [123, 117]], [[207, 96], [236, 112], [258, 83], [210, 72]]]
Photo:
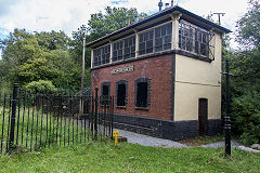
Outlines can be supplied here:
[[162, 25], [139, 35], [139, 55], [171, 49], [172, 25]]

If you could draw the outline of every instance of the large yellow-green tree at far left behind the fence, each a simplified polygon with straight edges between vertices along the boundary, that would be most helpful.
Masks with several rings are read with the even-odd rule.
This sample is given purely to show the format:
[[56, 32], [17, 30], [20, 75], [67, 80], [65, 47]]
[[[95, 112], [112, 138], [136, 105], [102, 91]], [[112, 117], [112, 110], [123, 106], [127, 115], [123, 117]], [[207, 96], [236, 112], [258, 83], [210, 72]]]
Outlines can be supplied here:
[[[80, 66], [69, 55], [70, 41], [61, 31], [30, 34], [25, 29], [15, 29], [1, 41], [2, 78], [5, 83], [18, 82], [23, 88], [34, 81], [46, 80], [55, 86], [77, 91], [80, 86]], [[1, 83], [0, 86], [3, 85]]]

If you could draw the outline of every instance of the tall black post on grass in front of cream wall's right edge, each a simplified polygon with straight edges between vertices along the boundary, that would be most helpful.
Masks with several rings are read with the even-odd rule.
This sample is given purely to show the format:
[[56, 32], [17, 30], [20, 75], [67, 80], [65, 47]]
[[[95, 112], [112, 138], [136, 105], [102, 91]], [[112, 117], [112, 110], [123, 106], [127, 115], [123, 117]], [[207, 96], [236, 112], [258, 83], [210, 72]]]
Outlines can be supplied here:
[[230, 61], [225, 58], [225, 154], [231, 155], [231, 120], [230, 120]]

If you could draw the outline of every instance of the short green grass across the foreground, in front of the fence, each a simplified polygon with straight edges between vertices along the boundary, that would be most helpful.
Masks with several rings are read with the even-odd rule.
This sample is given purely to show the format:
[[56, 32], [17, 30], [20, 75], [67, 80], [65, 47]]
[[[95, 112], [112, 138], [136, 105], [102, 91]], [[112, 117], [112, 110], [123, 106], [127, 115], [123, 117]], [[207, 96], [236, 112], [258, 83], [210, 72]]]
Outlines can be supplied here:
[[158, 148], [107, 139], [0, 157], [0, 172], [259, 172], [260, 154], [223, 148]]

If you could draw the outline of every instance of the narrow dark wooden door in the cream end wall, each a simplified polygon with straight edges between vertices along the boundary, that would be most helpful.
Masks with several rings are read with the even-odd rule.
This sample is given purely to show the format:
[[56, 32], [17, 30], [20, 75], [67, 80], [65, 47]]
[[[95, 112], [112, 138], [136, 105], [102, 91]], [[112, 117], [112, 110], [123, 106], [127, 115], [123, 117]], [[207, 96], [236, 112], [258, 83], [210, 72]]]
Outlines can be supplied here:
[[199, 135], [206, 135], [208, 129], [208, 99], [198, 99]]

